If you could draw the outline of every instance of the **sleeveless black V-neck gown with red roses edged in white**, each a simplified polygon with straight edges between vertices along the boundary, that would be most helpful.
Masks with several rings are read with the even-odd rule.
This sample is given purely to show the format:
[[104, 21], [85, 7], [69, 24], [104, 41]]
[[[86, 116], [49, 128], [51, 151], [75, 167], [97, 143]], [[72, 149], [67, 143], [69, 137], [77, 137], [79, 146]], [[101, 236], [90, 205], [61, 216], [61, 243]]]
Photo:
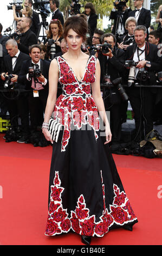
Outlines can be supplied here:
[[54, 118], [64, 126], [53, 144], [49, 209], [45, 235], [74, 231], [102, 237], [113, 228], [138, 222], [116, 169], [109, 145], [100, 136], [98, 109], [91, 94], [96, 58], [90, 56], [78, 81], [66, 59], [56, 57], [62, 94]]

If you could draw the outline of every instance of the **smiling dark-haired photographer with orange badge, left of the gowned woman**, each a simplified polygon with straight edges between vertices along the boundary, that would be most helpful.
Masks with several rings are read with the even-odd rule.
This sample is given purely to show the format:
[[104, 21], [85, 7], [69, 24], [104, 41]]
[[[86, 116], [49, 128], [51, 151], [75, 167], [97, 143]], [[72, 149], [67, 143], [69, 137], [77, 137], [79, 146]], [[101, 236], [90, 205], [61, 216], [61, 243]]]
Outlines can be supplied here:
[[43, 111], [48, 97], [48, 72], [50, 63], [41, 59], [40, 45], [29, 47], [30, 60], [23, 62], [18, 76], [18, 82], [26, 84], [26, 89], [31, 89], [28, 97], [31, 130], [41, 126]]

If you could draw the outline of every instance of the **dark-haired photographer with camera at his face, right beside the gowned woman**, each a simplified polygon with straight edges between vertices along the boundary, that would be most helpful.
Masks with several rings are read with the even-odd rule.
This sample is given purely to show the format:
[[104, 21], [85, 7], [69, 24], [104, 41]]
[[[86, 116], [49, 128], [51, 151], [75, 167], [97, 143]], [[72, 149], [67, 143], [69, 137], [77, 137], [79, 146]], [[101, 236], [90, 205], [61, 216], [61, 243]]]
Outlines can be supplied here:
[[[122, 154], [121, 141], [121, 108], [127, 101], [127, 95], [121, 86], [121, 66], [125, 63], [125, 51], [115, 46], [116, 38], [112, 33], [102, 35], [102, 49], [98, 59], [101, 66], [101, 84], [107, 85], [108, 96], [105, 97], [105, 109], [111, 114], [112, 153]], [[113, 86], [112, 83], [113, 82]], [[101, 88], [102, 89], [102, 88]]]

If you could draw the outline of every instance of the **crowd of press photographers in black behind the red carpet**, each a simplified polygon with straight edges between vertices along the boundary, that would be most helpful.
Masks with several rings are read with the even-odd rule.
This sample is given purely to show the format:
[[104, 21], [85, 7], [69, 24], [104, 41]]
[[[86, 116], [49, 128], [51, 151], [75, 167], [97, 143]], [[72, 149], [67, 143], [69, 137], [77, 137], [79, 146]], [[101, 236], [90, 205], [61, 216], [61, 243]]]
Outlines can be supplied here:
[[[59, 0], [18, 2], [7, 7], [16, 22], [15, 32], [10, 26], [2, 35], [3, 22], [0, 23], [0, 118], [10, 120], [3, 138], [5, 142], [46, 147], [50, 143], [41, 126], [48, 97], [49, 66], [51, 60], [68, 51], [63, 38], [64, 17]], [[162, 5], [154, 29], [151, 11], [143, 7], [144, 0], [134, 1], [134, 10], [128, 6], [128, 0], [114, 1], [109, 16], [112, 31], [104, 33], [97, 27], [99, 17], [92, 3], [86, 3], [81, 13], [79, 0], [69, 2], [69, 14], [81, 15], [88, 22], [82, 51], [93, 54], [100, 62], [101, 93], [105, 109], [110, 112], [112, 153], [161, 156], [162, 151], [156, 151], [152, 142], [162, 141], [162, 135], [154, 129], [162, 125]], [[58, 84], [57, 96], [61, 93]], [[128, 131], [124, 139], [122, 125], [127, 122], [129, 104], [135, 129]], [[141, 145], [142, 141], [146, 143]]]

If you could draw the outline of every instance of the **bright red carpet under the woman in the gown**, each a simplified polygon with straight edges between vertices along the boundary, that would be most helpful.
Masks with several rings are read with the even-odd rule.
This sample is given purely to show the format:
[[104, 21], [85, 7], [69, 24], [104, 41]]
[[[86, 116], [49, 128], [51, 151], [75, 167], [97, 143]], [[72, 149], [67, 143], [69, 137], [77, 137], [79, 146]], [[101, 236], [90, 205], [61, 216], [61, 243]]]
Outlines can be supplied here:
[[[5, 143], [2, 134], [0, 143], [0, 245], [83, 245], [76, 234], [44, 235], [51, 146]], [[132, 232], [111, 230], [92, 245], [161, 245], [162, 160], [121, 155], [114, 160], [139, 222]]]

